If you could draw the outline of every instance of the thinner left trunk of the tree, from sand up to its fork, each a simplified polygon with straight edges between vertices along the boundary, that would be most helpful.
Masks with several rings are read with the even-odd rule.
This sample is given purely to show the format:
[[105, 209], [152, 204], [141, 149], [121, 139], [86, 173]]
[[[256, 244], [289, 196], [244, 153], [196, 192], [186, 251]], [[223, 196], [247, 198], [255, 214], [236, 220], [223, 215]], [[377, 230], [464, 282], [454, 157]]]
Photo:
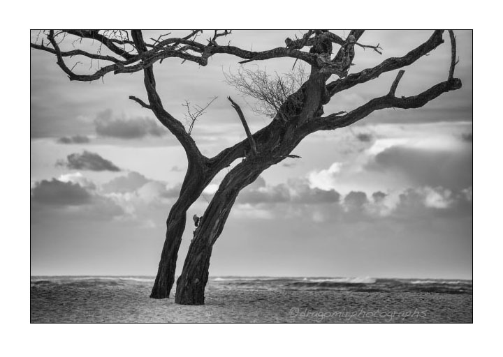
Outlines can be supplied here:
[[169, 298], [170, 296], [171, 288], [175, 282], [176, 262], [187, 220], [187, 210], [198, 199], [209, 181], [200, 169], [189, 164], [180, 190], [180, 197], [171, 208], [168, 220], [166, 220], [166, 240], [154, 287], [150, 293], [151, 298]]

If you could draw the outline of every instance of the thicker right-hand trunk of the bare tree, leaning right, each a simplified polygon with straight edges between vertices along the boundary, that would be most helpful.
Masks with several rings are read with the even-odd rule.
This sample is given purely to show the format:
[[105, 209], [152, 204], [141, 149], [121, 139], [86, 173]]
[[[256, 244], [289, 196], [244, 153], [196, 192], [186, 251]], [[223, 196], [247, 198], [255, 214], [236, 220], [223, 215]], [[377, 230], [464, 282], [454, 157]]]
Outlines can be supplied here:
[[[301, 104], [296, 102], [294, 96], [289, 99], [294, 102], [295, 108], [289, 123], [272, 132], [257, 156], [245, 158], [225, 176], [194, 233], [182, 274], [177, 280], [175, 303], [204, 304], [213, 245], [224, 229], [236, 197], [240, 190], [255, 181], [265, 169], [286, 158], [307, 135], [308, 132], [301, 127], [316, 114], [321, 114], [326, 99], [325, 80], [325, 75], [312, 71], [311, 79], [298, 92]], [[287, 102], [286, 105], [288, 104]], [[260, 141], [261, 136], [258, 139]]]

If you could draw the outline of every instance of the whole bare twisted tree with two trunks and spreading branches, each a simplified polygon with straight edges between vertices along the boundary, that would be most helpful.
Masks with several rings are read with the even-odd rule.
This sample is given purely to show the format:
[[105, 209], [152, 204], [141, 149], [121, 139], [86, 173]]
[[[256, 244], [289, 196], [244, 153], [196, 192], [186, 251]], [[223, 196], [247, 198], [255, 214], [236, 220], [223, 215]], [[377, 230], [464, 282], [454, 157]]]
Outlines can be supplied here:
[[[395, 91], [404, 74], [401, 68], [411, 65], [442, 45], [444, 31], [434, 31], [428, 40], [404, 56], [389, 58], [375, 67], [348, 74], [356, 46], [371, 48], [381, 53], [382, 49], [379, 45], [363, 45], [358, 42], [363, 33], [363, 30], [352, 30], [344, 39], [330, 31], [309, 30], [302, 38], [296, 40], [287, 38], [286, 45], [282, 47], [258, 52], [242, 50], [231, 46], [230, 43], [220, 45], [218, 42], [231, 34], [229, 30], [215, 30], [206, 41], [198, 40], [202, 38], [201, 30], [190, 31], [182, 38], [169, 37], [169, 34], [166, 34], [150, 40], [145, 40], [140, 30], [49, 30], [41, 32], [36, 43], [31, 43], [34, 49], [54, 54], [57, 57], [58, 66], [71, 80], [93, 81], [103, 78], [107, 73], [133, 73], [143, 70], [147, 100], [141, 100], [136, 96], [129, 98], [142, 107], [150, 109], [163, 126], [175, 135], [187, 153], [187, 174], [182, 183], [180, 197], [173, 204], [166, 221], [166, 241], [150, 295], [152, 298], [168, 298], [170, 295], [174, 283], [178, 248], [185, 229], [187, 209], [201, 195], [214, 176], [231, 165], [234, 160], [242, 158], [242, 161], [235, 165], [221, 181], [219, 189], [194, 231], [194, 238], [191, 241], [182, 273], [177, 280], [176, 303], [185, 305], [204, 303], [212, 247], [224, 229], [228, 214], [240, 190], [255, 181], [268, 167], [285, 158], [296, 157], [291, 152], [307, 135], [319, 130], [335, 130], [350, 126], [379, 109], [422, 107], [442, 93], [460, 89], [461, 81], [454, 77], [456, 50], [452, 31], [449, 31], [452, 49], [451, 66], [446, 80], [416, 96], [409, 97], [395, 96]], [[78, 41], [82, 39], [96, 41], [99, 43], [100, 50], [104, 46], [110, 54], [80, 49], [64, 51], [60, 48], [60, 43], [64, 40], [78, 44]], [[333, 46], [338, 46], [335, 54], [333, 54]], [[309, 50], [305, 50], [305, 47]], [[182, 123], [163, 106], [156, 91], [154, 64], [161, 63], [166, 58], [176, 57], [206, 66], [208, 59], [216, 54], [233, 55], [242, 60], [240, 63], [273, 58], [296, 59], [309, 66], [309, 77], [295, 91], [284, 91], [282, 96], [288, 93], [287, 96], [277, 97], [282, 98], [282, 102], [275, 100], [268, 102], [269, 107], [264, 114], [273, 116], [273, 119], [267, 126], [253, 134], [249, 131], [239, 105], [228, 98], [242, 121], [247, 138], [222, 150], [214, 157], [207, 158], [198, 149]], [[74, 72], [74, 68], [68, 68], [65, 59], [69, 56], [84, 56], [108, 64], [92, 73], [78, 74]], [[323, 116], [323, 105], [330, 102], [330, 98], [333, 98], [336, 93], [368, 82], [392, 70], [398, 70], [398, 75], [386, 93], [349, 112]], [[257, 75], [260, 82], [263, 74]], [[329, 81], [332, 75], [338, 78]], [[279, 79], [277, 81], [279, 83]], [[284, 84], [284, 79], [282, 81], [281, 83]], [[249, 89], [251, 88], [253, 87], [250, 86]], [[254, 92], [249, 90], [248, 93], [253, 95]], [[266, 91], [266, 93], [269, 92]], [[275, 114], [272, 113], [272, 108]]]

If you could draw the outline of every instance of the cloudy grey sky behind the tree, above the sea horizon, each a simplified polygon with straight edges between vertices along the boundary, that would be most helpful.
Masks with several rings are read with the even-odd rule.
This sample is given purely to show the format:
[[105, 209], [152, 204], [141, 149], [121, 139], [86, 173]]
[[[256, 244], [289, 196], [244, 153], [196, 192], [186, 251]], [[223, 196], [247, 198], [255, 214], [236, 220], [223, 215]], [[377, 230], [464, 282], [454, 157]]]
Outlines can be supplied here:
[[[264, 50], [295, 34], [302, 33], [235, 31], [228, 40]], [[351, 72], [402, 56], [430, 34], [367, 31], [360, 43], [379, 43], [383, 55], [357, 47]], [[456, 34], [462, 89], [420, 109], [381, 110], [350, 128], [307, 137], [294, 151], [302, 158], [271, 167], [241, 192], [214, 247], [210, 275], [472, 278], [472, 32]], [[444, 39], [405, 68], [397, 96], [447, 78], [451, 49]], [[98, 66], [83, 62], [75, 68]], [[206, 67], [180, 62], [156, 66], [157, 86], [182, 122], [186, 100], [204, 105], [218, 97], [192, 132], [205, 155], [245, 137], [226, 96], [241, 105], [252, 131], [269, 123], [225, 82], [238, 59], [216, 55]], [[293, 62], [246, 66], [286, 73]], [[325, 112], [384, 95], [395, 75], [337, 94]], [[146, 98], [141, 73], [70, 82], [53, 55], [31, 50], [32, 275], [156, 273], [187, 162], [174, 137], [131, 95]], [[225, 173], [189, 216], [203, 214]], [[179, 268], [192, 230], [187, 225]]]

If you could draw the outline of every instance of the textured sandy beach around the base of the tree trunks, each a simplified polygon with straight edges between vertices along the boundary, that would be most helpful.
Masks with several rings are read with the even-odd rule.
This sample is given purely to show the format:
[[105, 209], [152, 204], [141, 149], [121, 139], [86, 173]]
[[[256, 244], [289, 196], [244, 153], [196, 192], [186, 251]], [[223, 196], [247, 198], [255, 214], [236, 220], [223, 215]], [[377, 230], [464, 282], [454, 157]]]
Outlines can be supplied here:
[[150, 281], [32, 284], [31, 322], [472, 322], [472, 294], [240, 289], [210, 282], [206, 304], [150, 299]]

